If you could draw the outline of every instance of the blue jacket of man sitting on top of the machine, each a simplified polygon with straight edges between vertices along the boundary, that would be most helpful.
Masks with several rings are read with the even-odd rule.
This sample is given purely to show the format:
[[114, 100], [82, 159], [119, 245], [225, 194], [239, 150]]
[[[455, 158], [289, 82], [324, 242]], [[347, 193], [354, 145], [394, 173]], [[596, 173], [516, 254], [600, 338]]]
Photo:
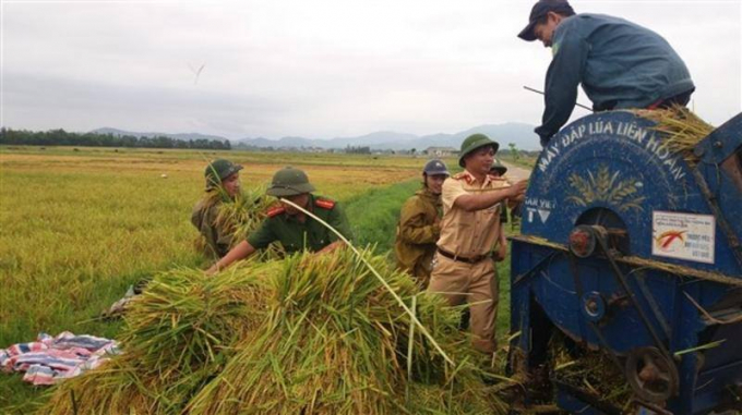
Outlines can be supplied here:
[[546, 109], [535, 131], [546, 142], [566, 123], [582, 83], [595, 110], [646, 108], [692, 91], [691, 74], [658, 34], [603, 14], [565, 17], [554, 29]]

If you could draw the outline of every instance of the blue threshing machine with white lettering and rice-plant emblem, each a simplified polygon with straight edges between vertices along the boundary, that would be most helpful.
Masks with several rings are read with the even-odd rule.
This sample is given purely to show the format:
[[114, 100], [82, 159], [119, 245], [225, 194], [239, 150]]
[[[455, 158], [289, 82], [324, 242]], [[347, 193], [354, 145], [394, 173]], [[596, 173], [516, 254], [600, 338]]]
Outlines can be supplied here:
[[[685, 156], [654, 126], [596, 113], [541, 152], [513, 239], [510, 367], [548, 374], [571, 413], [740, 413], [742, 114]], [[555, 338], [606, 355], [594, 371], [624, 377], [626, 402], [558, 380]]]

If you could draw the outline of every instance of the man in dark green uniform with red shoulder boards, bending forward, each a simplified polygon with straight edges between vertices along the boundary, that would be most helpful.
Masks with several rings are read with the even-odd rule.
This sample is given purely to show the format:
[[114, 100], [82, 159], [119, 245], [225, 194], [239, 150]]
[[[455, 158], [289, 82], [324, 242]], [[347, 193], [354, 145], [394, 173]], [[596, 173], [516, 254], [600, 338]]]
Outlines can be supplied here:
[[[312, 192], [314, 192], [314, 186], [309, 183], [307, 174], [299, 169], [287, 167], [274, 174], [266, 194], [289, 200], [309, 210], [335, 228], [343, 236], [351, 239], [350, 225], [337, 202], [314, 196]], [[267, 218], [255, 232], [248, 235], [246, 241], [240, 242], [224, 258], [214, 264], [207, 273], [216, 272], [236, 260], [244, 259], [258, 249], [267, 247], [272, 242], [280, 243], [288, 254], [304, 249], [326, 253], [344, 244], [322, 223], [282, 202], [268, 209]]]

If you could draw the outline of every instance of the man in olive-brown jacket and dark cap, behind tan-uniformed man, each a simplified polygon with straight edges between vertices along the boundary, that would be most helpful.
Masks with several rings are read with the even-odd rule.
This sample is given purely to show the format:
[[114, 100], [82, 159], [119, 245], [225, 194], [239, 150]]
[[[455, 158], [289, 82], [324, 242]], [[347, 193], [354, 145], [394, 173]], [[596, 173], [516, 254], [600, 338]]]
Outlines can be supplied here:
[[422, 169], [422, 188], [402, 206], [394, 252], [397, 268], [404, 269], [421, 289], [428, 286], [435, 242], [441, 233], [441, 187], [448, 178], [441, 160], [430, 160]]

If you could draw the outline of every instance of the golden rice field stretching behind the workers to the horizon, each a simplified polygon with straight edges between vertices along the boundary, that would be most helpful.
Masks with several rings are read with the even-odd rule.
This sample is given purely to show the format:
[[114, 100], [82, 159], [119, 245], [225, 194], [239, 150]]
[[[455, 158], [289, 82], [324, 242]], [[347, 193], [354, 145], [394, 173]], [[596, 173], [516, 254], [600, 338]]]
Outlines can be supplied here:
[[[345, 204], [359, 244], [385, 254], [402, 203], [426, 158], [333, 154], [0, 147], [0, 347], [38, 332], [117, 338], [100, 313], [142, 278], [202, 267], [193, 204], [210, 159], [244, 166], [242, 186], [264, 186], [284, 166], [304, 169], [318, 194]], [[451, 167], [455, 160], [446, 160]], [[504, 266], [506, 268], [506, 266]], [[501, 269], [505, 276], [506, 269]], [[505, 280], [501, 278], [501, 280]], [[501, 304], [507, 286], [501, 289]], [[499, 333], [505, 334], [506, 305]], [[26, 413], [45, 389], [0, 375], [0, 412]]]

